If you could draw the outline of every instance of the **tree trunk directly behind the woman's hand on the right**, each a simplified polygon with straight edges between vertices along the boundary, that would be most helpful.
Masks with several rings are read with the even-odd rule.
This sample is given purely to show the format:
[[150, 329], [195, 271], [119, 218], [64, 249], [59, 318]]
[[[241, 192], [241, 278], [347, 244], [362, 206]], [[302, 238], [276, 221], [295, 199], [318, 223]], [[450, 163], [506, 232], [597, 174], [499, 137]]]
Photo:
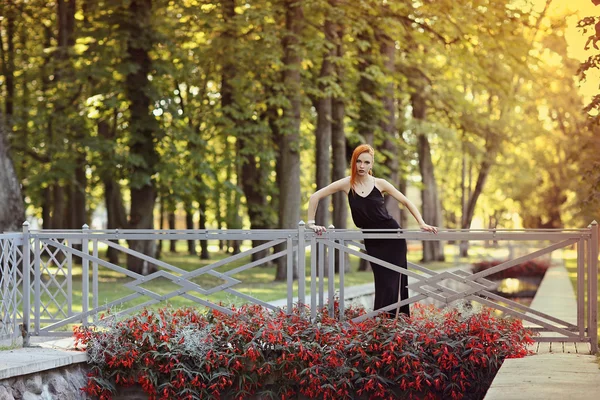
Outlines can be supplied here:
[[[411, 95], [413, 106], [413, 117], [420, 122], [425, 121], [427, 114], [427, 104], [425, 98], [420, 94], [420, 89], [416, 89]], [[433, 162], [431, 160], [431, 148], [427, 134], [417, 133], [417, 152], [419, 154], [419, 170], [423, 182], [421, 191], [423, 219], [426, 223], [441, 227], [442, 206], [439, 199], [437, 183], [435, 180]], [[423, 241], [423, 262], [444, 261], [444, 250], [439, 241]]]

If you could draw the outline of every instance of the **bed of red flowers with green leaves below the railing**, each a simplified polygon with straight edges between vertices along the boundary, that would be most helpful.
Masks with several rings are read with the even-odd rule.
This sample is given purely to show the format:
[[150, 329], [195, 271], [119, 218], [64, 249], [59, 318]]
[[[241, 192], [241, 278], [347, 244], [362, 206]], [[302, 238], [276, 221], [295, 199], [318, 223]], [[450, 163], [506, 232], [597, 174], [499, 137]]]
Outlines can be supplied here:
[[149, 398], [480, 399], [505, 358], [523, 357], [531, 333], [518, 320], [461, 307], [414, 308], [411, 318], [317, 321], [260, 306], [228, 316], [194, 309], [144, 311], [102, 328], [75, 329], [92, 364], [88, 395], [116, 385]]

